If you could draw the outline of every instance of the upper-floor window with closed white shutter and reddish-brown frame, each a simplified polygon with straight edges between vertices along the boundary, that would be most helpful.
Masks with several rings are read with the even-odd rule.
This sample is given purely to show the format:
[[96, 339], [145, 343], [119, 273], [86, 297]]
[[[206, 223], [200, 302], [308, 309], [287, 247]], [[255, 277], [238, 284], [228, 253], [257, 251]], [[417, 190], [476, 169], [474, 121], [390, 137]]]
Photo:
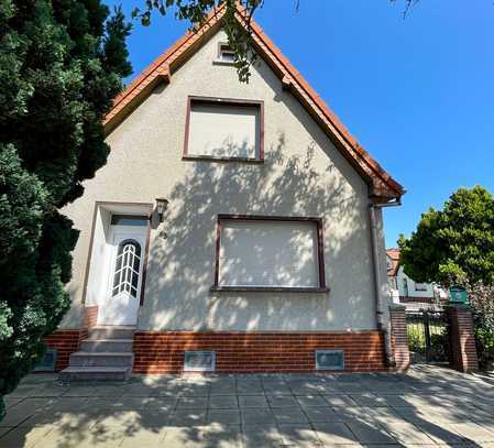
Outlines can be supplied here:
[[185, 159], [263, 160], [263, 103], [189, 97]]

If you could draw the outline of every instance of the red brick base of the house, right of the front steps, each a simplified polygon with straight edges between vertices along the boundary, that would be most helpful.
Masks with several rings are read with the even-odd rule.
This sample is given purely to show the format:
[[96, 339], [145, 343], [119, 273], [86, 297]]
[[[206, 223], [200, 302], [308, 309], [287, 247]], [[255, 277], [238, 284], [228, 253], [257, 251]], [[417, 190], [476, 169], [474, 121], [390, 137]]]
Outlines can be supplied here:
[[378, 331], [194, 332], [138, 331], [135, 373], [177, 373], [185, 350], [216, 351], [217, 372], [315, 371], [316, 349], [343, 349], [345, 370], [384, 371], [384, 338]]

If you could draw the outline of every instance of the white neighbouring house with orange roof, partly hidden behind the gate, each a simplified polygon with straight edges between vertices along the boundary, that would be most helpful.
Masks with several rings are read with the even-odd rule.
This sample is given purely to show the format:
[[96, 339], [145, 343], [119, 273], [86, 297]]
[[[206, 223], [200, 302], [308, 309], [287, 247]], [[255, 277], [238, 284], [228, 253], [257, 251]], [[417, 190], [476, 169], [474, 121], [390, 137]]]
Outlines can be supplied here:
[[407, 310], [438, 309], [447, 299], [447, 293], [432, 283], [418, 283], [405, 274], [399, 264], [399, 249], [386, 250], [389, 295]]

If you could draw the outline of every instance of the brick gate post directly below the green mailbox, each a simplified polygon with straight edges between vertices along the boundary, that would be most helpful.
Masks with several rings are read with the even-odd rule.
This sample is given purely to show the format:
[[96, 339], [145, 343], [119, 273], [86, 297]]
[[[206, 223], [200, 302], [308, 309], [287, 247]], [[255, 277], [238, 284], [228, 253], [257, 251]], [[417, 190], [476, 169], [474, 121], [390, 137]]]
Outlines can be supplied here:
[[460, 372], [479, 370], [472, 312], [463, 305], [446, 307], [449, 320], [450, 365]]

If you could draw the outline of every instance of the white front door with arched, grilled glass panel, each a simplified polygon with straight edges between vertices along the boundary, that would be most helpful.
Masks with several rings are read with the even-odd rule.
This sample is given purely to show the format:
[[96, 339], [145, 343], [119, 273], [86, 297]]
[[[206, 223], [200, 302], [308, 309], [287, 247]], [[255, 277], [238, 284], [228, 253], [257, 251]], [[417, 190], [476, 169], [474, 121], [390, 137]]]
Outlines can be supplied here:
[[110, 275], [98, 324], [135, 325], [141, 301], [146, 228], [111, 226]]

